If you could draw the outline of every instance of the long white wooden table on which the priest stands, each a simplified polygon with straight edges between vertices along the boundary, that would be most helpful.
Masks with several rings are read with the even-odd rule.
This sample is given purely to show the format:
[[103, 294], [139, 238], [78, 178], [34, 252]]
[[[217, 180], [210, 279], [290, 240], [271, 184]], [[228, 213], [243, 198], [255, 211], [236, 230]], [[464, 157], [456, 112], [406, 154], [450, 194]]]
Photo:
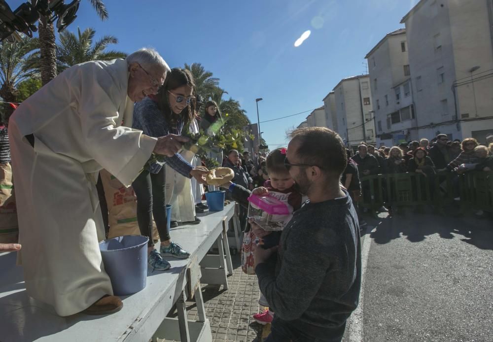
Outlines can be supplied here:
[[[22, 268], [15, 266], [16, 253], [0, 253], [0, 341], [212, 341], [199, 278], [202, 273], [203, 283], [222, 284], [227, 289], [226, 275], [232, 273], [232, 267], [226, 230], [233, 216], [231, 204], [202, 217], [199, 225], [173, 229], [172, 239], [190, 251], [190, 258], [166, 258], [171, 263], [166, 272], [151, 273], [149, 269], [145, 289], [122, 297], [123, 309], [106, 316], [58, 316], [51, 306], [27, 295]], [[207, 255], [214, 243], [220, 252], [215, 257]], [[184, 301], [192, 294], [199, 313], [197, 322], [186, 320]], [[178, 318], [166, 318], [175, 303]]]

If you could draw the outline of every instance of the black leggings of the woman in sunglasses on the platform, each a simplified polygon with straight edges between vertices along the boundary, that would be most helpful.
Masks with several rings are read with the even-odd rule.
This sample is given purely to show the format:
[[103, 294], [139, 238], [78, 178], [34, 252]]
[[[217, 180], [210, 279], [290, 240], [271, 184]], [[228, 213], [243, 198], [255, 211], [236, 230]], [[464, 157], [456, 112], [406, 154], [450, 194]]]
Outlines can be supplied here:
[[144, 170], [132, 183], [137, 197], [139, 229], [141, 235], [149, 238], [149, 246], [154, 245], [152, 241], [153, 216], [161, 241], [171, 239], [167, 225], [165, 184], [166, 168], [162, 168], [158, 173], [149, 173], [149, 171]]

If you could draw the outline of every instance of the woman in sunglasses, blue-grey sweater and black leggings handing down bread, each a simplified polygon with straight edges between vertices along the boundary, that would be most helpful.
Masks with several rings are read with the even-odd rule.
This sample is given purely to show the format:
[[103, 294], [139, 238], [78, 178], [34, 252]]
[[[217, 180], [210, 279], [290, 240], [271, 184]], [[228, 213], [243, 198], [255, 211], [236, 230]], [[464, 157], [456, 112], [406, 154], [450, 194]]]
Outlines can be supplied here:
[[[192, 92], [195, 87], [192, 74], [181, 68], [168, 72], [157, 95], [149, 96], [134, 106], [132, 128], [143, 131], [150, 137], [166, 136], [170, 133], [182, 135], [189, 130], [194, 119], [191, 109]], [[205, 183], [205, 173], [193, 168], [179, 154], [167, 157], [166, 164], [184, 177], [194, 177]], [[149, 237], [148, 263], [153, 270], [165, 271], [171, 265], [162, 256], [188, 258], [190, 253], [173, 242], [167, 227], [166, 214], [166, 168], [154, 162], [134, 180], [132, 186], [137, 197], [137, 220], [143, 236]], [[161, 239], [159, 252], [152, 241], [152, 218]]]

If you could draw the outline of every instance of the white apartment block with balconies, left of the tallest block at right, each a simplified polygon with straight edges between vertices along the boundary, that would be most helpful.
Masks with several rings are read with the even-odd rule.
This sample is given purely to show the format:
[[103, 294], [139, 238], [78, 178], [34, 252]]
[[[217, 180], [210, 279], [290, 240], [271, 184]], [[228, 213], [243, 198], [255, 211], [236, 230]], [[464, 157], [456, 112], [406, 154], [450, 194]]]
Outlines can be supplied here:
[[370, 72], [377, 146], [418, 139], [406, 30], [387, 34], [365, 58]]

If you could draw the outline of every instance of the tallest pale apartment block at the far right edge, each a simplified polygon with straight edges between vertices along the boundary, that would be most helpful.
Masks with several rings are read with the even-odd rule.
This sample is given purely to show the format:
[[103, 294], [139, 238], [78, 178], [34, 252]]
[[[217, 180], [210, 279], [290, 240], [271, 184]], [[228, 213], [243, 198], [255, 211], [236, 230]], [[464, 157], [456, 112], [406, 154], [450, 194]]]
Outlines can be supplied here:
[[493, 0], [421, 0], [401, 23], [418, 128], [412, 137], [484, 142], [493, 133]]

